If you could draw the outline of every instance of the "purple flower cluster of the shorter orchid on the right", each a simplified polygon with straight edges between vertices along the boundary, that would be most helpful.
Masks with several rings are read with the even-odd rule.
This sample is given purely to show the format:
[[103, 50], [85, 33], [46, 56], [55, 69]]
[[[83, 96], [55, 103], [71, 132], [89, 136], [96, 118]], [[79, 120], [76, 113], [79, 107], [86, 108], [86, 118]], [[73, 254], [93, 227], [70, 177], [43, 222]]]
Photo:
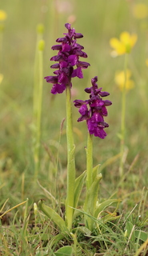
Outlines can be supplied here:
[[86, 120], [90, 134], [94, 134], [94, 136], [99, 138], [105, 138], [106, 132], [104, 128], [109, 126], [104, 122], [104, 117], [107, 116], [106, 106], [110, 106], [112, 102], [102, 100], [101, 97], [106, 97], [110, 94], [106, 91], [102, 92], [102, 88], [98, 89], [96, 82], [98, 82], [98, 77], [92, 78], [92, 86], [85, 89], [86, 93], [90, 94], [90, 99], [86, 101], [75, 100], [74, 106], [79, 108], [78, 111], [82, 115], [78, 118], [78, 122]]

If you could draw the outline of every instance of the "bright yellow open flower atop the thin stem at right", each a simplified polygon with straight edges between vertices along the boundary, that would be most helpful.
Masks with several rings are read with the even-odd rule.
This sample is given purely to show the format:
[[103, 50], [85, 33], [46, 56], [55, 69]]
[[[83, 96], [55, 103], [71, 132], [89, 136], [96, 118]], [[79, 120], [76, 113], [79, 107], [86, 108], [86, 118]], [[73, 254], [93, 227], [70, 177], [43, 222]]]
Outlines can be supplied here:
[[137, 42], [137, 34], [129, 34], [128, 32], [122, 32], [120, 34], [120, 40], [118, 38], [110, 39], [110, 46], [114, 49], [111, 52], [113, 57], [122, 54], [130, 54], [131, 49], [134, 47]]

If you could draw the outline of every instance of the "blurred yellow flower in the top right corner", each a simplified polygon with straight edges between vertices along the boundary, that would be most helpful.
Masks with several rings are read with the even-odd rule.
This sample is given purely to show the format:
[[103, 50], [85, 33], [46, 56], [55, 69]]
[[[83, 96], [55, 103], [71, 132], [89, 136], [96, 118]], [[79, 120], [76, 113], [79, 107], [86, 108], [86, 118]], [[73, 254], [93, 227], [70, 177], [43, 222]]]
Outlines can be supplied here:
[[146, 18], [148, 16], [148, 6], [144, 3], [138, 3], [133, 7], [133, 15], [135, 18]]

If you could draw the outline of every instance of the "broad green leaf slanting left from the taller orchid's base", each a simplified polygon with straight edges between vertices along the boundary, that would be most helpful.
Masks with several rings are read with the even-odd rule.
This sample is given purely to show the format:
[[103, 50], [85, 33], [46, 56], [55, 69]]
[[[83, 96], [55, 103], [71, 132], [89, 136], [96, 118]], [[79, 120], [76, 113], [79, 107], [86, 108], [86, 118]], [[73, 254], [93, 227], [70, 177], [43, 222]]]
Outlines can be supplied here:
[[38, 202], [38, 207], [48, 218], [50, 218], [62, 231], [66, 230], [66, 223], [64, 220], [56, 213], [55, 210], [46, 206], [42, 200]]

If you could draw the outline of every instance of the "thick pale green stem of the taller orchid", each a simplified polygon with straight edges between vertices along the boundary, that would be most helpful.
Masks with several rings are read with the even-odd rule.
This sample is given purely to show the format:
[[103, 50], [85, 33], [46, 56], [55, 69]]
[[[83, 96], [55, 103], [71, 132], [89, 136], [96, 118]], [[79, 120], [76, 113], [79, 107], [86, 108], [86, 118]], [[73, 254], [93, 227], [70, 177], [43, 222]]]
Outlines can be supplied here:
[[66, 197], [66, 225], [70, 230], [74, 214], [74, 134], [72, 122], [71, 91], [70, 85], [66, 86], [66, 138], [67, 138], [67, 197]]

